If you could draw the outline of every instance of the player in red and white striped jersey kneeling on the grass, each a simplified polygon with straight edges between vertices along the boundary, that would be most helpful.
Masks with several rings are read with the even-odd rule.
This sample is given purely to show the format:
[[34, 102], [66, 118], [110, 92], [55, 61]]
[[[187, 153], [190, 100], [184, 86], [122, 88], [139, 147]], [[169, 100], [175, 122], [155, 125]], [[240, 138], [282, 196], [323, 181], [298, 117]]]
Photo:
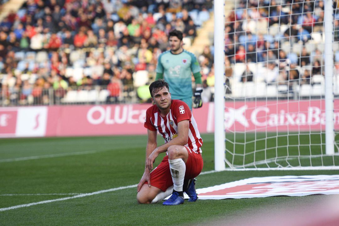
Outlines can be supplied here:
[[[147, 128], [146, 165], [138, 184], [139, 203], [156, 203], [172, 193], [163, 205], [178, 205], [197, 200], [195, 177], [202, 170], [202, 139], [192, 112], [187, 104], [172, 100], [168, 84], [154, 81], [149, 86], [154, 105], [146, 111], [144, 126]], [[157, 131], [165, 144], [157, 147]], [[166, 152], [162, 162], [151, 172], [159, 153]], [[173, 190], [172, 190], [173, 189]]]

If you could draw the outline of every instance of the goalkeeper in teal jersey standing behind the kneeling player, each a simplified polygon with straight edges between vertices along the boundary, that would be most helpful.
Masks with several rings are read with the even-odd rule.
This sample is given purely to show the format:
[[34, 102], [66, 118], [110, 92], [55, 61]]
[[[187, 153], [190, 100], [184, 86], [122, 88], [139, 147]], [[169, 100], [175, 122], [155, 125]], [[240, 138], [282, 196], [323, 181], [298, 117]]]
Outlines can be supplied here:
[[[184, 101], [191, 110], [192, 105], [194, 108], [201, 107], [202, 82], [199, 62], [193, 53], [182, 48], [182, 32], [172, 30], [168, 36], [171, 49], [160, 54], [155, 80], [164, 79], [171, 87], [172, 98]], [[193, 104], [192, 73], [196, 83]]]

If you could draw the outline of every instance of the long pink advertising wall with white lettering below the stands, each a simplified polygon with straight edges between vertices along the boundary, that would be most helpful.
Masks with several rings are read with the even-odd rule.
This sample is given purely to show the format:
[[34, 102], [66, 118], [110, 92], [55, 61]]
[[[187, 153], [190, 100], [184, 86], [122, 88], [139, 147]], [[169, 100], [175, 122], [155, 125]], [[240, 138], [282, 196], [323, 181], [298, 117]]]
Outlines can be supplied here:
[[[68, 137], [146, 134], [150, 104], [0, 107], [0, 137]], [[335, 100], [334, 106], [339, 106]], [[325, 103], [237, 101], [225, 104], [225, 128], [231, 131], [324, 131]], [[233, 112], [236, 114], [233, 114]], [[231, 114], [232, 113], [232, 114]], [[214, 103], [193, 110], [201, 133], [214, 131]], [[339, 130], [339, 109], [334, 112]]]

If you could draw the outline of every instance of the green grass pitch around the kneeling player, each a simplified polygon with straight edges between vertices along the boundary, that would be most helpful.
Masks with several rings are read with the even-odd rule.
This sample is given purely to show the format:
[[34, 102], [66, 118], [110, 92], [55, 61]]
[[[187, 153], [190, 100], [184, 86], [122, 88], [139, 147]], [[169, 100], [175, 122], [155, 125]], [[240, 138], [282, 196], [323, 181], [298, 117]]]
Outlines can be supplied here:
[[[214, 136], [204, 134], [202, 138], [203, 171], [210, 171], [214, 169]], [[146, 136], [0, 139], [0, 208], [74, 196], [70, 193], [135, 185], [143, 173], [146, 141]], [[163, 143], [161, 138], [158, 142]], [[162, 157], [158, 157], [156, 164]], [[196, 187], [250, 177], [338, 173], [335, 170], [224, 171], [198, 176]], [[132, 187], [1, 211], [0, 225], [211, 224], [253, 208], [319, 199], [308, 196], [198, 200], [171, 207], [161, 203], [139, 205], [136, 194], [136, 187]]]

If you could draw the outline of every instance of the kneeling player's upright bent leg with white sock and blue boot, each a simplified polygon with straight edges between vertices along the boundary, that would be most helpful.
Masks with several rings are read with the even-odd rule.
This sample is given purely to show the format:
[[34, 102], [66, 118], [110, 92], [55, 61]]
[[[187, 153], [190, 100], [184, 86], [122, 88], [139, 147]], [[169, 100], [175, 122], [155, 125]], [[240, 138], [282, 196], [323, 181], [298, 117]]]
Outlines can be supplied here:
[[163, 205], [178, 205], [184, 202], [183, 184], [188, 152], [184, 146], [172, 145], [167, 149], [169, 169], [173, 180], [172, 196]]

